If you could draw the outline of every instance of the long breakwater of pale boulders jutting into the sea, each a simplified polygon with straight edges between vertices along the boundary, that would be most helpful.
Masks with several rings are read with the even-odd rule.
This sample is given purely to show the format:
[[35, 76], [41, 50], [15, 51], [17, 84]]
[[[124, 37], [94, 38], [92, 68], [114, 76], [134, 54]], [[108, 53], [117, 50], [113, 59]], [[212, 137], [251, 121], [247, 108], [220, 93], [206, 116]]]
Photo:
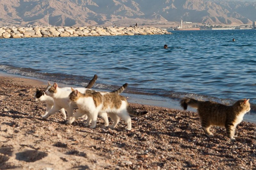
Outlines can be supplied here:
[[0, 27], [0, 38], [171, 34], [154, 27]]

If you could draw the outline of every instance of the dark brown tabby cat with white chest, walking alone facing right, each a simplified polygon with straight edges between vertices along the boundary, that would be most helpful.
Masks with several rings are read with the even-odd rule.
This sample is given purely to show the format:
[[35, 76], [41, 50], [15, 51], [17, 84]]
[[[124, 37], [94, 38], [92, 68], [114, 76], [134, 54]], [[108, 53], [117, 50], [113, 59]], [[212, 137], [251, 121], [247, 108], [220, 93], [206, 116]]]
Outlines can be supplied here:
[[236, 126], [243, 120], [245, 113], [250, 111], [249, 99], [238, 100], [231, 106], [226, 106], [213, 101], [201, 101], [192, 98], [183, 98], [181, 107], [187, 106], [197, 109], [204, 133], [209, 138], [213, 137], [210, 132], [211, 126], [223, 126], [226, 128], [228, 138], [235, 140]]

